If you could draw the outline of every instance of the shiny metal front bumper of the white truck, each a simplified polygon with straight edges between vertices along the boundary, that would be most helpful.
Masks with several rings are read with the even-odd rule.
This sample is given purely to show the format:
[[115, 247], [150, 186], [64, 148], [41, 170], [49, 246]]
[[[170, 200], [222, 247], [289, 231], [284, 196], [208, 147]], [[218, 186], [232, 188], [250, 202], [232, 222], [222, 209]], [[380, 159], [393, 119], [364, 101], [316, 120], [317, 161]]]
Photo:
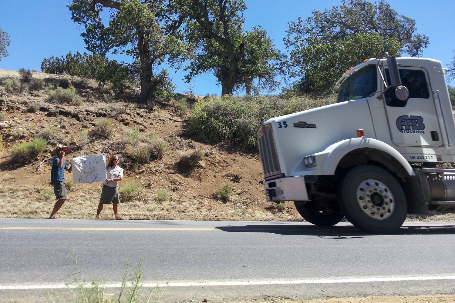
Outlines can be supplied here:
[[308, 201], [303, 176], [274, 179], [263, 184], [267, 201]]

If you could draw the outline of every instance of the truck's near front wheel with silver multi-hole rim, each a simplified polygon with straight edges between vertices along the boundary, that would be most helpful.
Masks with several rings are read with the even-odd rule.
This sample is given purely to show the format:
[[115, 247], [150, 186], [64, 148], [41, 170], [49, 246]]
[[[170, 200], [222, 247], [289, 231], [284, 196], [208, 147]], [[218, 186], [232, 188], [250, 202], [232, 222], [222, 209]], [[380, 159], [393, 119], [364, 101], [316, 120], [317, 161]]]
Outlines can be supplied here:
[[391, 174], [374, 165], [351, 169], [340, 183], [338, 199], [346, 219], [370, 233], [393, 233], [406, 219], [403, 188]]

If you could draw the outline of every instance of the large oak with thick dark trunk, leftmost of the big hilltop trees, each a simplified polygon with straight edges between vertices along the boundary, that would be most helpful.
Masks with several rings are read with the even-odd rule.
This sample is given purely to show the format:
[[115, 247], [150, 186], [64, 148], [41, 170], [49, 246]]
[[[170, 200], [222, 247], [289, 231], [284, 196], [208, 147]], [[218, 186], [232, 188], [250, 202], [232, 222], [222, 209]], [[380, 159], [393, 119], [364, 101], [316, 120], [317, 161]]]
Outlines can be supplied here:
[[157, 99], [156, 85], [162, 85], [162, 75], [167, 75], [165, 70], [158, 73], [158, 67], [167, 56], [175, 58], [183, 50], [179, 27], [184, 13], [172, 0], [73, 0], [68, 7], [71, 19], [84, 26], [81, 35], [87, 50], [130, 55], [133, 63], [128, 66], [137, 72], [141, 85], [139, 102]]

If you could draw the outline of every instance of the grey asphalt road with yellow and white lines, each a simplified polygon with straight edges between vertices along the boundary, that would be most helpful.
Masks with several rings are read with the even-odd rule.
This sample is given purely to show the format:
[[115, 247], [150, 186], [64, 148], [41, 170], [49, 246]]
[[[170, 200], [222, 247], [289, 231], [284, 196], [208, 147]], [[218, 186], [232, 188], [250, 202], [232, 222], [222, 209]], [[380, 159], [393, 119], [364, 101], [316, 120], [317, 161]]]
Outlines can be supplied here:
[[373, 235], [346, 223], [0, 219], [0, 302], [67, 292], [74, 255], [107, 293], [142, 260], [144, 293], [167, 285], [162, 302], [455, 294], [454, 235], [454, 223]]

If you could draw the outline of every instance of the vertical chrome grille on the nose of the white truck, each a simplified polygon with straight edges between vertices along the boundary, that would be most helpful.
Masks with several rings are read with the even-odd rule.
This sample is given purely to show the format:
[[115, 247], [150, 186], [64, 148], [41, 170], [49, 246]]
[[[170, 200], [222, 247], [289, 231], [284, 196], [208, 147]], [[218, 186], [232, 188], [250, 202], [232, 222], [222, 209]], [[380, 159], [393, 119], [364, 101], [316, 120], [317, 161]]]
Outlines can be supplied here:
[[281, 174], [272, 124], [263, 124], [261, 126], [258, 131], [258, 144], [265, 179]]

